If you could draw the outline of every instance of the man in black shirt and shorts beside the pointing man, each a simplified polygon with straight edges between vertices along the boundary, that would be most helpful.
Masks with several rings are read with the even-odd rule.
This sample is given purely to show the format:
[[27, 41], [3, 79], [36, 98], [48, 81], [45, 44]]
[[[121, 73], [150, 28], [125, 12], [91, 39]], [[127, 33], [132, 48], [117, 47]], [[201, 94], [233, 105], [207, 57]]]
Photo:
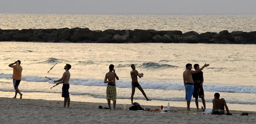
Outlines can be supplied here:
[[[194, 64], [194, 69], [198, 70], [200, 68], [199, 64]], [[206, 109], [205, 106], [205, 100], [204, 100], [204, 92], [203, 92], [203, 72], [200, 71], [198, 73], [192, 74], [192, 78], [194, 81], [194, 92], [193, 92], [193, 98], [195, 98], [195, 105], [197, 110], [199, 110], [198, 107], [198, 96], [202, 99], [203, 107]]]

